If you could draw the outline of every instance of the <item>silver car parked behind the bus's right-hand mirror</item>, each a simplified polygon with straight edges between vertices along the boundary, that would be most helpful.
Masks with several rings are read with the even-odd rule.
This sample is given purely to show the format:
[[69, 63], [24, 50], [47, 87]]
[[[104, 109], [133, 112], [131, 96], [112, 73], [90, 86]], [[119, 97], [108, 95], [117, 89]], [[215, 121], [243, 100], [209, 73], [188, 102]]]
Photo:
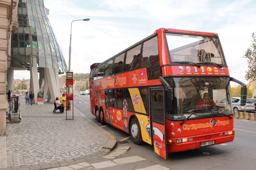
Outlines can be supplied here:
[[247, 98], [246, 99], [246, 105], [241, 106], [241, 98], [240, 97], [232, 97], [233, 111], [235, 111], [235, 112], [244, 111], [245, 107], [246, 107], [247, 111], [255, 111], [255, 107], [250, 107], [250, 106], [255, 106], [255, 103], [252, 99]]

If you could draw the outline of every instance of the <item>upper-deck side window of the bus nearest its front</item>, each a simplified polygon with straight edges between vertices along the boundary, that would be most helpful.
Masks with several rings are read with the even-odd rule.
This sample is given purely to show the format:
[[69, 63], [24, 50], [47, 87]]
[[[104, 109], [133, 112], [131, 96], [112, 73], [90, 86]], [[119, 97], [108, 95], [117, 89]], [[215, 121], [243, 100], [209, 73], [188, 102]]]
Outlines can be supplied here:
[[[151, 67], [152, 65], [152, 56], [158, 56], [158, 43], [157, 37], [154, 37], [146, 42], [143, 43], [143, 50], [142, 50], [142, 58], [141, 58], [141, 67], [147, 66]], [[151, 59], [151, 61], [150, 61]], [[155, 64], [155, 63], [154, 63]], [[158, 57], [158, 64], [159, 64], [159, 57]]]

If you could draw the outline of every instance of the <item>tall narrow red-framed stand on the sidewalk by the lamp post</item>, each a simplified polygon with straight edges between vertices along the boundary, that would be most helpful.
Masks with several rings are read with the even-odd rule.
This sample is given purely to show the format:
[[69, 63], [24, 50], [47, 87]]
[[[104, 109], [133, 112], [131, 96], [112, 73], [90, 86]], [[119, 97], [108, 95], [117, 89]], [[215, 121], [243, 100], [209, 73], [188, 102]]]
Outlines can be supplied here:
[[[67, 92], [67, 89], [71, 88], [70, 93]], [[72, 111], [73, 111], [73, 118], [74, 119], [74, 105], [73, 105], [73, 94], [74, 94], [74, 88], [73, 88], [73, 72], [66, 72], [66, 119], [68, 119], [67, 116], [67, 110], [71, 110], [71, 101], [72, 101]]]

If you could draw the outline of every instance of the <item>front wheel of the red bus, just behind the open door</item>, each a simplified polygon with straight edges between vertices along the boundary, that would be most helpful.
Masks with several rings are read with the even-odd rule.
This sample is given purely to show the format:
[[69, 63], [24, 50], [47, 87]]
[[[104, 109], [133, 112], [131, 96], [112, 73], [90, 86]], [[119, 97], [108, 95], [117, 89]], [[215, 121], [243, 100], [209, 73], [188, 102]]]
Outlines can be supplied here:
[[136, 145], [141, 145], [143, 141], [141, 140], [140, 124], [136, 118], [133, 118], [131, 121], [130, 131], [133, 143], [135, 143]]

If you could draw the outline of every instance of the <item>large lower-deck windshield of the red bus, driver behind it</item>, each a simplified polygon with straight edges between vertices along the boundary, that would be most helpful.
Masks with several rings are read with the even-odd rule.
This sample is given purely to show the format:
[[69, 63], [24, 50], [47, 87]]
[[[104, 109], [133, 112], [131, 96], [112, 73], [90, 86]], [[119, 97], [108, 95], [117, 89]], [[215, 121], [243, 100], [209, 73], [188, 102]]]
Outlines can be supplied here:
[[[233, 114], [228, 77], [165, 78], [173, 87], [172, 110], [168, 119], [190, 119]], [[218, 102], [219, 101], [219, 102]]]

